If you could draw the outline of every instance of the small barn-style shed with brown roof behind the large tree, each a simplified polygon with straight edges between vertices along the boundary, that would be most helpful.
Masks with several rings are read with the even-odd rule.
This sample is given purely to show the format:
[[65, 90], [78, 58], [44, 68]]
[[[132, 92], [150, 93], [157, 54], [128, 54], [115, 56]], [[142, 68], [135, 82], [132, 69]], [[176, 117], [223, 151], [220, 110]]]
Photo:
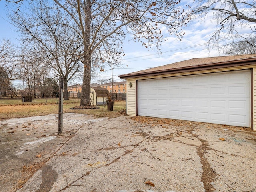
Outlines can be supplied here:
[[106, 96], [109, 91], [103, 87], [90, 87], [91, 104], [106, 105]]

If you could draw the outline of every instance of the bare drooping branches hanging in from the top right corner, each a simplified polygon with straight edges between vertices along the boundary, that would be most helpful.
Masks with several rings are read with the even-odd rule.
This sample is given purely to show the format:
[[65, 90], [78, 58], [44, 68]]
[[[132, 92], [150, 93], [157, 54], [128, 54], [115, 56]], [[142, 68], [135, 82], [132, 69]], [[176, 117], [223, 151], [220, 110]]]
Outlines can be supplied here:
[[213, 22], [216, 23], [216, 31], [209, 43], [218, 44], [225, 41], [226, 45], [243, 41], [244, 37], [238, 31], [242, 28], [250, 28], [251, 34], [256, 32], [253, 25], [256, 23], [255, 0], [200, 0], [194, 13], [202, 18], [212, 16]]

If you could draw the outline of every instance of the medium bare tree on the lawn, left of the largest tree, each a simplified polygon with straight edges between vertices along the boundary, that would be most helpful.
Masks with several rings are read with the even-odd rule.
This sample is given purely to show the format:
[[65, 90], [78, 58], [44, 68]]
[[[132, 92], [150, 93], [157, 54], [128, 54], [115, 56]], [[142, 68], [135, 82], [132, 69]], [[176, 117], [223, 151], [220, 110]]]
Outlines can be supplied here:
[[22, 32], [26, 48], [30, 47], [32, 52], [40, 50], [45, 62], [63, 77], [64, 99], [68, 100], [68, 81], [80, 69], [79, 56], [83, 44], [74, 31], [72, 21], [60, 9], [49, 10], [48, 3], [33, 1], [26, 12], [15, 10], [10, 18]]

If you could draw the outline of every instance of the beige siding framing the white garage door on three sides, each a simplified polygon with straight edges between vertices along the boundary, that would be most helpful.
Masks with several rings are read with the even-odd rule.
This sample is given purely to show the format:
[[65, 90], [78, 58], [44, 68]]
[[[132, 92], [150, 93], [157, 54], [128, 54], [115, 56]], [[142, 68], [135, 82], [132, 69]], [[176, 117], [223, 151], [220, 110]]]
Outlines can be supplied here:
[[[237, 66], [237, 67], [229, 67], [229, 68], [220, 68], [214, 70], [198, 70], [195, 72], [183, 72], [183, 73], [176, 73], [176, 74], [165, 74], [165, 75], [153, 75], [148, 77], [138, 77], [138, 78], [130, 78], [127, 79], [127, 114], [134, 116], [136, 115], [136, 80], [143, 80], [143, 79], [154, 79], [154, 78], [165, 78], [165, 77], [175, 77], [175, 76], [185, 76], [185, 75], [193, 75], [193, 74], [206, 74], [206, 73], [214, 73], [214, 72], [225, 72], [225, 71], [232, 71], [232, 70], [244, 70], [244, 69], [253, 69], [253, 128], [256, 130], [256, 65], [250, 66]], [[129, 82], [132, 83], [132, 88], [129, 86]]]

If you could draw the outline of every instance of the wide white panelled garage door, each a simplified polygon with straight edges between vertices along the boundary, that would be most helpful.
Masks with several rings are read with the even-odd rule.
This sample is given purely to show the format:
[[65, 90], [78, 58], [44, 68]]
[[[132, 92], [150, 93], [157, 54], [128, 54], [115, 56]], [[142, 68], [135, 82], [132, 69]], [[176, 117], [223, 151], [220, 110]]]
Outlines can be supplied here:
[[250, 126], [250, 70], [138, 80], [138, 115]]

